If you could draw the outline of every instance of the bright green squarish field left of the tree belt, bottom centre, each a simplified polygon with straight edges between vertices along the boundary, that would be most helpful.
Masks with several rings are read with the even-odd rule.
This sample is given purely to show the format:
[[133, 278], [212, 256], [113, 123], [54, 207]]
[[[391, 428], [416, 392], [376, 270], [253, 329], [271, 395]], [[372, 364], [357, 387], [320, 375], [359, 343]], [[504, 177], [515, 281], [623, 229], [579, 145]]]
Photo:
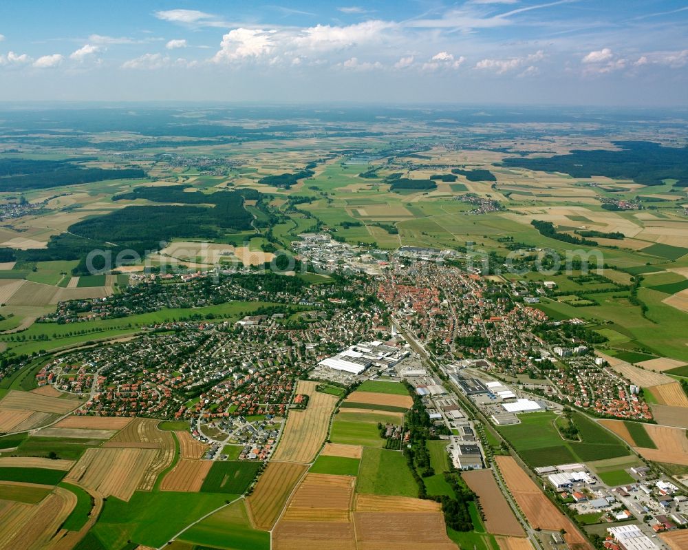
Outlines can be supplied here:
[[401, 452], [365, 447], [356, 492], [418, 497], [418, 485]]

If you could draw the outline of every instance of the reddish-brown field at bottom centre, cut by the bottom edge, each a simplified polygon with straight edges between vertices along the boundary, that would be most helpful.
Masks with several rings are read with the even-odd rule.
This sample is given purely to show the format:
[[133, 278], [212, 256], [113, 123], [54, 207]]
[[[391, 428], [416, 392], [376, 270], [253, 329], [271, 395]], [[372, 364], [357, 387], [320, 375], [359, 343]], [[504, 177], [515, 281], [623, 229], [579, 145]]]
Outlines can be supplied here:
[[354, 512], [358, 550], [456, 550], [435, 512]]

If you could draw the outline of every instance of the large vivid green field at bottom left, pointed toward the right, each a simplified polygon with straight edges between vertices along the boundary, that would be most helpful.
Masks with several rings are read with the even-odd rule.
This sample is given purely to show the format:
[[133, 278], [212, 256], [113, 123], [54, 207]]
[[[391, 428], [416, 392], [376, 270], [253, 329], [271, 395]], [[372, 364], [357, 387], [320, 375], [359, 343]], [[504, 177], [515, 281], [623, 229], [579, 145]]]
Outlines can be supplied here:
[[90, 532], [107, 550], [120, 550], [129, 540], [158, 548], [187, 525], [236, 497], [230, 494], [136, 491], [125, 503], [110, 496]]

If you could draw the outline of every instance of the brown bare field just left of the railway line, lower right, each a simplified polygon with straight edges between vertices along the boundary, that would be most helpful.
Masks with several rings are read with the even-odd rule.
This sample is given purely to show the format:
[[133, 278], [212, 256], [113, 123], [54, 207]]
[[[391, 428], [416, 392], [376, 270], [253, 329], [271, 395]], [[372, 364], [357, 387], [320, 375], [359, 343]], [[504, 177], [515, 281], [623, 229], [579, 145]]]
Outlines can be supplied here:
[[485, 514], [485, 527], [495, 535], [526, 536], [521, 524], [514, 516], [499, 490], [499, 485], [491, 469], [464, 472], [461, 477], [480, 498], [480, 505]]

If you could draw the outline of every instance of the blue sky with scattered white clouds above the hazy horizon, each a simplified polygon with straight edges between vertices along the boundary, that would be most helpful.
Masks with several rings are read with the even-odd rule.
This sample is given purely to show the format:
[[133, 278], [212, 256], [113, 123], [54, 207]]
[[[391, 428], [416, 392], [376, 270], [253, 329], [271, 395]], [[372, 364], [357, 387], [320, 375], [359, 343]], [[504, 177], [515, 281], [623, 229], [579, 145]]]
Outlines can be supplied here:
[[688, 0], [3, 0], [0, 101], [685, 106]]

